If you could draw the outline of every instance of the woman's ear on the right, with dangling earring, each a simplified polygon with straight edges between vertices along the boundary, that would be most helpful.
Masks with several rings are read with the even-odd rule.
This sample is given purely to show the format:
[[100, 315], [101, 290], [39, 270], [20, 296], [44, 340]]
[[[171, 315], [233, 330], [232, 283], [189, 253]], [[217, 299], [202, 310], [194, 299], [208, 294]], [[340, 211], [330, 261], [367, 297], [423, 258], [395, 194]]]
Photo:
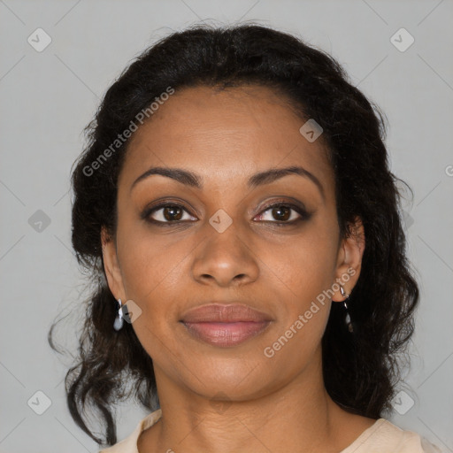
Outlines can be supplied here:
[[[348, 296], [356, 286], [362, 268], [362, 257], [365, 250], [365, 230], [362, 219], [357, 217], [354, 223], [350, 224], [350, 232], [349, 237], [343, 238], [340, 244], [335, 271], [335, 282], [343, 287]], [[342, 296], [338, 289], [332, 300], [342, 302], [346, 297]]]

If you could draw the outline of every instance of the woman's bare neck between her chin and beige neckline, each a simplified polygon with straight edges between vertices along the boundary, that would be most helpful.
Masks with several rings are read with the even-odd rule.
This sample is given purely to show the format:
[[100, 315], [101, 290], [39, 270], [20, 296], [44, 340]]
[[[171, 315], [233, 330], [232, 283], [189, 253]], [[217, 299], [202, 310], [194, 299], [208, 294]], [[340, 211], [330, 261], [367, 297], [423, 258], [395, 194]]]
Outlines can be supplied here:
[[221, 392], [210, 400], [168, 380], [155, 367], [163, 415], [141, 436], [139, 451], [337, 453], [374, 420], [334, 403], [324, 388], [320, 357], [316, 366], [319, 379], [308, 379], [305, 370], [253, 400]]

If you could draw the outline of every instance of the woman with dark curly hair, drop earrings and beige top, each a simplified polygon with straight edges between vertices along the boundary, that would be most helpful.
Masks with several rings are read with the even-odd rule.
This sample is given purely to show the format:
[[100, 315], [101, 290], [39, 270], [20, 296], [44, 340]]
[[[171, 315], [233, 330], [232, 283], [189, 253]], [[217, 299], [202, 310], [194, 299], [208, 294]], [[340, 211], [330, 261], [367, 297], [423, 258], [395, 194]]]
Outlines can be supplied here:
[[[89, 132], [73, 248], [95, 286], [66, 388], [102, 451], [440, 451], [382, 418], [418, 286], [384, 121], [333, 58], [259, 26], [174, 33]], [[117, 443], [131, 395], [151, 413]]]

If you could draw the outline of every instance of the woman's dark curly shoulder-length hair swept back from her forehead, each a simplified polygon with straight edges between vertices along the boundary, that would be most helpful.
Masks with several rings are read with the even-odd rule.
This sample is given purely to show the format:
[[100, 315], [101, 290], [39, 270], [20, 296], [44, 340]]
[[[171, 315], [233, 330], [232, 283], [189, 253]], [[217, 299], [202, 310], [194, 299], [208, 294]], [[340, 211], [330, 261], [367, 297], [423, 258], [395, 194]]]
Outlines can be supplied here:
[[[117, 442], [115, 403], [131, 395], [148, 411], [159, 403], [152, 360], [133, 327], [112, 328], [117, 304], [104, 274], [101, 227], [114, 237], [128, 141], [93, 174], [87, 168], [168, 87], [269, 87], [285, 95], [301, 119], [316, 119], [324, 129], [340, 234], [353, 234], [350, 226], [358, 217], [366, 238], [360, 277], [349, 297], [354, 333], [344, 326], [341, 304], [334, 303], [322, 339], [325, 386], [346, 411], [380, 418], [389, 410], [401, 380], [400, 359], [408, 357], [418, 285], [405, 256], [398, 188], [403, 181], [388, 168], [385, 116], [348, 80], [334, 58], [293, 35], [255, 24], [197, 25], [145, 50], [107, 90], [72, 174], [73, 249], [92, 286], [83, 307], [80, 356], [65, 376], [69, 411], [97, 443]], [[54, 326], [49, 342], [55, 349]], [[104, 437], [96, 437], [82, 418], [87, 406], [100, 415]]]

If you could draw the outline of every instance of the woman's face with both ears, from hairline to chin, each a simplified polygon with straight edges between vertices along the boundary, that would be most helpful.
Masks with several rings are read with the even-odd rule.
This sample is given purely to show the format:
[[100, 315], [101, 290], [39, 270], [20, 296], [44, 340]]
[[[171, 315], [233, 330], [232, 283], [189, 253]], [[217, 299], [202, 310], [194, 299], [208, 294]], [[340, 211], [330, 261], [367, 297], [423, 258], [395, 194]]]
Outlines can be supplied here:
[[[344, 299], [342, 279], [350, 292], [363, 244], [339, 237], [334, 173], [322, 135], [299, 132], [304, 122], [269, 88], [185, 88], [134, 133], [104, 263], [112, 294], [142, 311], [132, 326], [157, 385], [241, 400], [301, 373], [319, 380], [323, 291]], [[196, 180], [145, 175], [156, 167]], [[300, 170], [257, 177], [287, 167]], [[263, 322], [188, 318], [211, 303], [248, 306]]]

